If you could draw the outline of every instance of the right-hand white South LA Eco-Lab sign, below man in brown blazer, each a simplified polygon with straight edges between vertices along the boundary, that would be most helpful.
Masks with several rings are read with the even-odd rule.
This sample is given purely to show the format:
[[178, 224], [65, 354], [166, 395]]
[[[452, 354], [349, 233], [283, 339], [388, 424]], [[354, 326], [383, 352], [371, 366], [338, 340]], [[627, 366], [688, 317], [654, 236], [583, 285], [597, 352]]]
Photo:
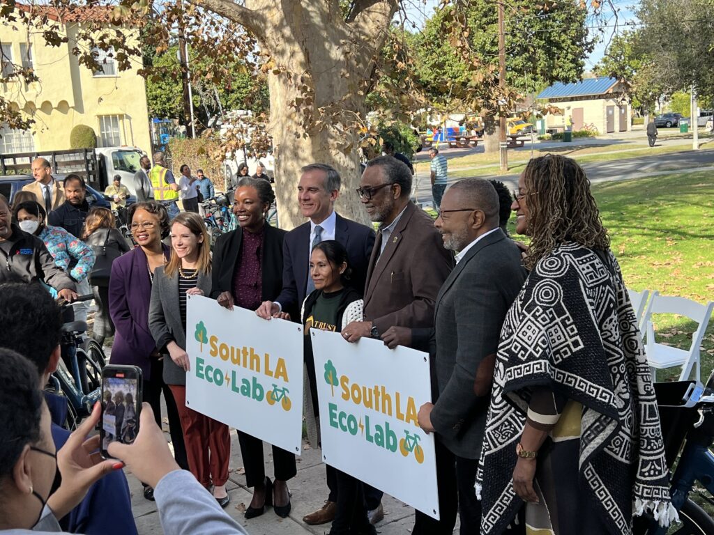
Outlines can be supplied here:
[[323, 460], [439, 518], [433, 434], [416, 421], [431, 402], [429, 357], [381, 340], [356, 344], [310, 330]]

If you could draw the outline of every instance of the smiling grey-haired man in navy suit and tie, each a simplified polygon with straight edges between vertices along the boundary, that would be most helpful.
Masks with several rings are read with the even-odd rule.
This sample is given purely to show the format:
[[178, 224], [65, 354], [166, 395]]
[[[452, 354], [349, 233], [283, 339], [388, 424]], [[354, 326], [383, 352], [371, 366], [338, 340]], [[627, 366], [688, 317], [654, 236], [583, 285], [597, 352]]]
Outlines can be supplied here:
[[[303, 216], [309, 218], [288, 232], [283, 240], [283, 290], [275, 301], [264, 301], [256, 313], [265, 318], [283, 311], [300, 310], [305, 297], [314, 289], [309, 276], [310, 253], [314, 245], [324, 240], [337, 240], [347, 250], [352, 276], [350, 285], [360, 294], [364, 292], [367, 265], [374, 245], [374, 230], [335, 212], [335, 201], [340, 193], [341, 179], [337, 170], [324, 163], [311, 163], [301, 169], [298, 183], [298, 204]], [[294, 312], [293, 312], [294, 313]], [[300, 318], [293, 317], [300, 321]], [[327, 524], [336, 511], [337, 483], [334, 469], [327, 467], [330, 495], [325, 505], [303, 518], [306, 524]], [[381, 512], [378, 494], [374, 511]], [[371, 519], [379, 519], [374, 514]]]

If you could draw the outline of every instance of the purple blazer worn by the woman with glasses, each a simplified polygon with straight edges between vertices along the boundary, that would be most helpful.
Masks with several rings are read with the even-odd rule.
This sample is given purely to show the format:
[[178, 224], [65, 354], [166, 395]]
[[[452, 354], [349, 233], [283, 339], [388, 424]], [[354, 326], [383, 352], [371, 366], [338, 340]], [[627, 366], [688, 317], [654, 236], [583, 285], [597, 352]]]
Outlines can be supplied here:
[[[164, 256], [171, 249], [166, 245]], [[149, 330], [151, 278], [144, 250], [137, 247], [121, 255], [111, 265], [109, 278], [109, 314], [116, 334], [111, 347], [111, 363], [139, 366], [144, 379], [151, 379], [151, 353], [156, 342]]]

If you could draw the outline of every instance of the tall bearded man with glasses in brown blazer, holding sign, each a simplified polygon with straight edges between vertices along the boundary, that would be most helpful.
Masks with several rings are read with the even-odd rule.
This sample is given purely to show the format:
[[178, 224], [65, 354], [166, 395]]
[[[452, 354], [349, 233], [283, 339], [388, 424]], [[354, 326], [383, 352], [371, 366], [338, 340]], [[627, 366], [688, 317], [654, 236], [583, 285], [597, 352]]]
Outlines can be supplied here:
[[[433, 220], [409, 200], [411, 171], [392, 156], [367, 163], [357, 193], [371, 220], [378, 222], [377, 240], [367, 267], [364, 321], [342, 330], [348, 342], [382, 338], [395, 326], [433, 327], [439, 288], [453, 267]], [[368, 516], [381, 516], [381, 492], [366, 486]], [[453, 529], [453, 525], [451, 526]], [[429, 517], [418, 515], [414, 533], [435, 533]]]

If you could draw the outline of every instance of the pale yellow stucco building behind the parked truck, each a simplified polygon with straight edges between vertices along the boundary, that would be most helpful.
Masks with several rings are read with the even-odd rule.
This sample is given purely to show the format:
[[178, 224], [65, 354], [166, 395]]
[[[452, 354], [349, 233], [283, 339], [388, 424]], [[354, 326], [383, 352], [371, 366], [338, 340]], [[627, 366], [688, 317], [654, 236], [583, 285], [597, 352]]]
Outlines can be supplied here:
[[[15, 66], [32, 68], [39, 78], [29, 84], [19, 80], [0, 83], [0, 95], [35, 121], [28, 131], [10, 130], [0, 124], [0, 153], [69, 149], [70, 133], [78, 124], [94, 130], [99, 147], [128, 145], [150, 152], [146, 85], [138, 73], [143, 67], [141, 57], [132, 57], [131, 68], [119, 71], [111, 51], [107, 54], [97, 49], [102, 68], [92, 72], [72, 54], [75, 46], [86, 46], [81, 40], [78, 43], [77, 36], [86, 30], [89, 21], [110, 26], [111, 8], [78, 6], [59, 10], [33, 6], [32, 9], [41, 10], [47, 24], [56, 25], [68, 42], [48, 46], [36, 29], [28, 31], [21, 22], [0, 25], [3, 78]], [[111, 31], [126, 31], [128, 39], [138, 39], [135, 30], [112, 26]]]

